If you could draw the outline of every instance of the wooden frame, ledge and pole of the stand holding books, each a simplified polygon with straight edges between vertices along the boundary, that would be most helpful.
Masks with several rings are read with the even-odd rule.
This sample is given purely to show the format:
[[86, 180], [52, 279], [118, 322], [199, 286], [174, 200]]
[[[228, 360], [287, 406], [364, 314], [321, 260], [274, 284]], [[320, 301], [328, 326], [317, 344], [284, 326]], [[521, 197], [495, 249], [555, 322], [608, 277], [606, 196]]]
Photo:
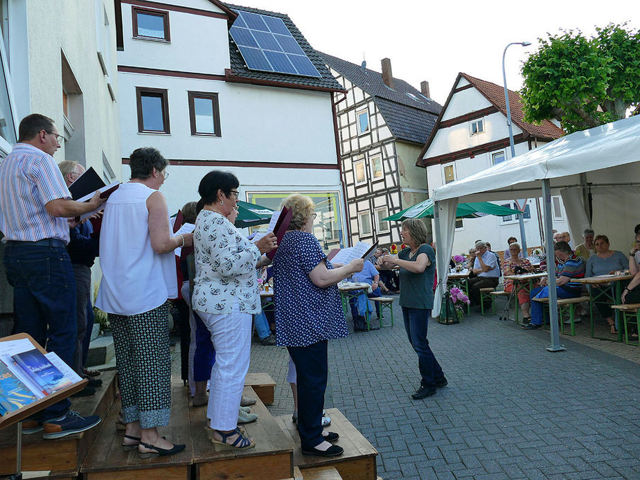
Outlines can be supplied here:
[[[37, 348], [42, 354], [46, 353], [46, 350], [42, 348], [37, 342], [30, 337], [30, 335], [26, 333], [18, 333], [17, 335], [10, 335], [9, 337], [3, 337], [0, 339], [0, 352], [2, 351], [2, 344], [5, 341], [10, 340], [19, 340], [19, 339], [28, 339], [28, 341], [33, 344], [33, 348]], [[0, 417], [0, 429], [6, 428], [10, 425], [14, 425], [17, 423], [18, 433], [16, 440], [16, 449], [17, 449], [17, 465], [16, 465], [16, 473], [9, 479], [21, 480], [22, 479], [22, 422], [24, 419], [36, 414], [38, 411], [53, 405], [54, 403], [60, 402], [60, 400], [64, 400], [64, 398], [73, 395], [87, 385], [87, 380], [80, 380], [79, 382], [75, 382], [69, 386], [65, 386], [64, 389], [51, 393], [51, 395], [46, 395], [44, 398], [40, 398], [39, 400], [35, 400], [31, 402], [29, 405], [21, 407], [15, 411], [10, 411], [6, 415]]]

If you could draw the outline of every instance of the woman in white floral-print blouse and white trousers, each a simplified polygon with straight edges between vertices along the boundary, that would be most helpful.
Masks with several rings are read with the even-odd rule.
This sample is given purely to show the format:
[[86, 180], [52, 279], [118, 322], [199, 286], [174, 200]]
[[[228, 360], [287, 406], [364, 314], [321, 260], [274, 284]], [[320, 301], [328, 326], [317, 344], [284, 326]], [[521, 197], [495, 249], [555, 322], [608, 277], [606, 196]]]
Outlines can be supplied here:
[[254, 245], [227, 219], [235, 211], [239, 186], [233, 173], [220, 170], [200, 181], [204, 207], [193, 234], [197, 273], [191, 305], [211, 333], [215, 349], [208, 435], [214, 443], [251, 448], [256, 443], [238, 429], [238, 407], [249, 370], [251, 314], [260, 312], [256, 265], [277, 244], [276, 236], [267, 233]]

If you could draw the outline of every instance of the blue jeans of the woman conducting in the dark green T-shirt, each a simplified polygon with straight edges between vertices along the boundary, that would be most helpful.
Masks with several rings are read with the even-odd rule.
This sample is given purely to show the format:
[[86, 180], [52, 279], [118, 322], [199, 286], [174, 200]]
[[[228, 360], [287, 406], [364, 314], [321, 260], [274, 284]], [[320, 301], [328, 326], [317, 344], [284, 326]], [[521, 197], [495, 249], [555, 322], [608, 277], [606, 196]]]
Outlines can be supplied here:
[[420, 368], [420, 376], [422, 377], [420, 384], [427, 388], [435, 388], [436, 381], [442, 380], [445, 374], [431, 351], [431, 347], [429, 347], [429, 340], [427, 340], [430, 316], [431, 310], [402, 307], [402, 317], [405, 319], [405, 330], [407, 330], [409, 344], [418, 354], [418, 368]]

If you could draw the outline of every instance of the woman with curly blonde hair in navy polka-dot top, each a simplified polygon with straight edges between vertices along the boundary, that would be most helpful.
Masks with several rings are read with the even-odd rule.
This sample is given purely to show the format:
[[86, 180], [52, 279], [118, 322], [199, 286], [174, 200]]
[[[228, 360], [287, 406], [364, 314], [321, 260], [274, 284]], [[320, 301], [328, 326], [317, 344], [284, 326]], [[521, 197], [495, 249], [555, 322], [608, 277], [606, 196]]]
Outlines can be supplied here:
[[[337, 283], [364, 267], [358, 258], [333, 268], [314, 237], [315, 204], [298, 193], [283, 201], [293, 212], [289, 230], [274, 256], [276, 341], [286, 346], [295, 365], [298, 395], [296, 425], [305, 455], [335, 456], [338, 434], [323, 432], [322, 411], [327, 388], [327, 344], [346, 337]], [[293, 382], [292, 377], [287, 380]], [[293, 386], [292, 386], [293, 390]]]

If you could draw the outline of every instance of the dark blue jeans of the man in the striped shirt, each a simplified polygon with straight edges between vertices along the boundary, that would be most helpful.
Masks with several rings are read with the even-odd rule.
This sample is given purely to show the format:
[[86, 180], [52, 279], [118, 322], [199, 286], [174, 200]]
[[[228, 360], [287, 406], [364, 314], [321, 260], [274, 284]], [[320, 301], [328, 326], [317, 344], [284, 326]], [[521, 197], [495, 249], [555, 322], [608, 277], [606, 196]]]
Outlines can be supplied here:
[[[73, 368], [75, 278], [66, 249], [9, 242], [4, 261], [13, 287], [15, 332], [28, 333]], [[37, 418], [62, 416], [70, 405], [69, 399], [61, 400]]]

